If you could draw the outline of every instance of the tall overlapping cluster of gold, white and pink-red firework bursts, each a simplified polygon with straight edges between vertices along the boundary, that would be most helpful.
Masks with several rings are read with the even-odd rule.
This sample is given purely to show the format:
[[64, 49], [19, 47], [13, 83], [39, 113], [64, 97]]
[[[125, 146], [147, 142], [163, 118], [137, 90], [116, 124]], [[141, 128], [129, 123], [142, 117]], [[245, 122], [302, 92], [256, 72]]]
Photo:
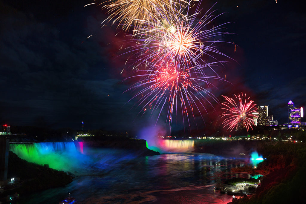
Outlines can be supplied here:
[[219, 15], [215, 16], [212, 9], [201, 14], [200, 3], [191, 9], [193, 5], [188, 2], [109, 0], [103, 6], [109, 13], [106, 20], [126, 32], [133, 28], [135, 46], [125, 54], [130, 54], [134, 72], [126, 80], [137, 82], [127, 91], [136, 91], [133, 98], [137, 98], [135, 105], [143, 107], [140, 112], [157, 111], [157, 121], [166, 110], [170, 127], [179, 113], [189, 126], [189, 119], [207, 113], [207, 103], [218, 102], [211, 93], [215, 86], [212, 80], [224, 80], [214, 69], [224, 62], [218, 56], [226, 56], [217, 47], [223, 41], [215, 40], [228, 34], [223, 31], [224, 24], [215, 26]]

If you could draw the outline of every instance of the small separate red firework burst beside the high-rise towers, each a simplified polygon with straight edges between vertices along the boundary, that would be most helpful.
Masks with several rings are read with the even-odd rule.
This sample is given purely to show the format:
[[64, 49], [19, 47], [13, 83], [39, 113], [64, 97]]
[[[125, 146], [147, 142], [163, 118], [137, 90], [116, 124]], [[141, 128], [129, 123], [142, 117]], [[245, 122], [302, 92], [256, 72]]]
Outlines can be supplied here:
[[228, 126], [228, 130], [232, 131], [240, 122], [241, 126], [244, 126], [247, 130], [248, 128], [252, 129], [252, 125], [254, 125], [253, 118], [257, 117], [256, 114], [252, 113], [257, 113], [257, 108], [255, 107], [256, 104], [253, 104], [253, 101], [250, 100], [250, 97], [246, 98], [246, 94], [242, 92], [241, 95], [234, 95], [233, 98], [223, 97], [226, 100], [226, 102], [221, 103], [224, 110], [221, 115], [224, 117], [224, 126]]

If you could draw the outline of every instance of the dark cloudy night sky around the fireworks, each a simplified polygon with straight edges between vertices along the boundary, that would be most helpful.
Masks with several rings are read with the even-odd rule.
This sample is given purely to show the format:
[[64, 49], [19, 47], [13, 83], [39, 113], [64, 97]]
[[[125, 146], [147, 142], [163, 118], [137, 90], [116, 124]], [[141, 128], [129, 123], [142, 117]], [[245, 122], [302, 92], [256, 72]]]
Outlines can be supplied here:
[[[142, 107], [128, 102], [135, 93], [124, 93], [131, 70], [120, 73], [129, 56], [118, 55], [129, 38], [116, 26], [101, 28], [107, 15], [101, 6], [84, 7], [92, 2], [0, 1], [1, 124], [80, 129], [84, 121], [84, 129], [107, 130], [155, 125], [154, 114], [138, 114]], [[208, 9], [215, 2], [201, 5]], [[230, 83], [216, 85], [216, 98], [244, 91], [257, 105], [268, 105], [274, 120], [287, 122], [289, 100], [306, 106], [302, 1], [222, 0], [213, 8], [226, 12], [216, 24], [230, 22], [231, 34], [222, 36], [230, 43], [218, 49], [233, 58], [218, 69]], [[203, 115], [197, 128], [220, 121], [215, 113]], [[157, 124], [168, 127], [166, 115]], [[184, 128], [181, 121], [172, 127]]]

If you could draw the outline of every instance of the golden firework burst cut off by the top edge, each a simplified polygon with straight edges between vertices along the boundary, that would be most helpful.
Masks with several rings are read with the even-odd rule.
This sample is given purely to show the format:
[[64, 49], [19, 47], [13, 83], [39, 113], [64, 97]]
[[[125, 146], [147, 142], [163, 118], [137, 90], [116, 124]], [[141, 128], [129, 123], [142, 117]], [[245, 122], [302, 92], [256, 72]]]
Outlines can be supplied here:
[[185, 1], [177, 0], [108, 0], [103, 9], [107, 9], [112, 24], [118, 23], [124, 30], [132, 25], [142, 26], [145, 19], [160, 18], [177, 12], [175, 7], [181, 7]]

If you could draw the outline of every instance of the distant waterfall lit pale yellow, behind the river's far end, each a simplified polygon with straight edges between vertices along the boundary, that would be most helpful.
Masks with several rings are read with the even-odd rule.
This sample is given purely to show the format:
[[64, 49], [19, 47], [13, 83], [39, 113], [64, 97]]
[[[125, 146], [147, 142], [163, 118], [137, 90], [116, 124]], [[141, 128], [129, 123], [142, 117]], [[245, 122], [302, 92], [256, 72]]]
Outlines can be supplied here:
[[194, 140], [163, 139], [159, 141], [159, 146], [168, 152], [190, 152], [193, 150]]

